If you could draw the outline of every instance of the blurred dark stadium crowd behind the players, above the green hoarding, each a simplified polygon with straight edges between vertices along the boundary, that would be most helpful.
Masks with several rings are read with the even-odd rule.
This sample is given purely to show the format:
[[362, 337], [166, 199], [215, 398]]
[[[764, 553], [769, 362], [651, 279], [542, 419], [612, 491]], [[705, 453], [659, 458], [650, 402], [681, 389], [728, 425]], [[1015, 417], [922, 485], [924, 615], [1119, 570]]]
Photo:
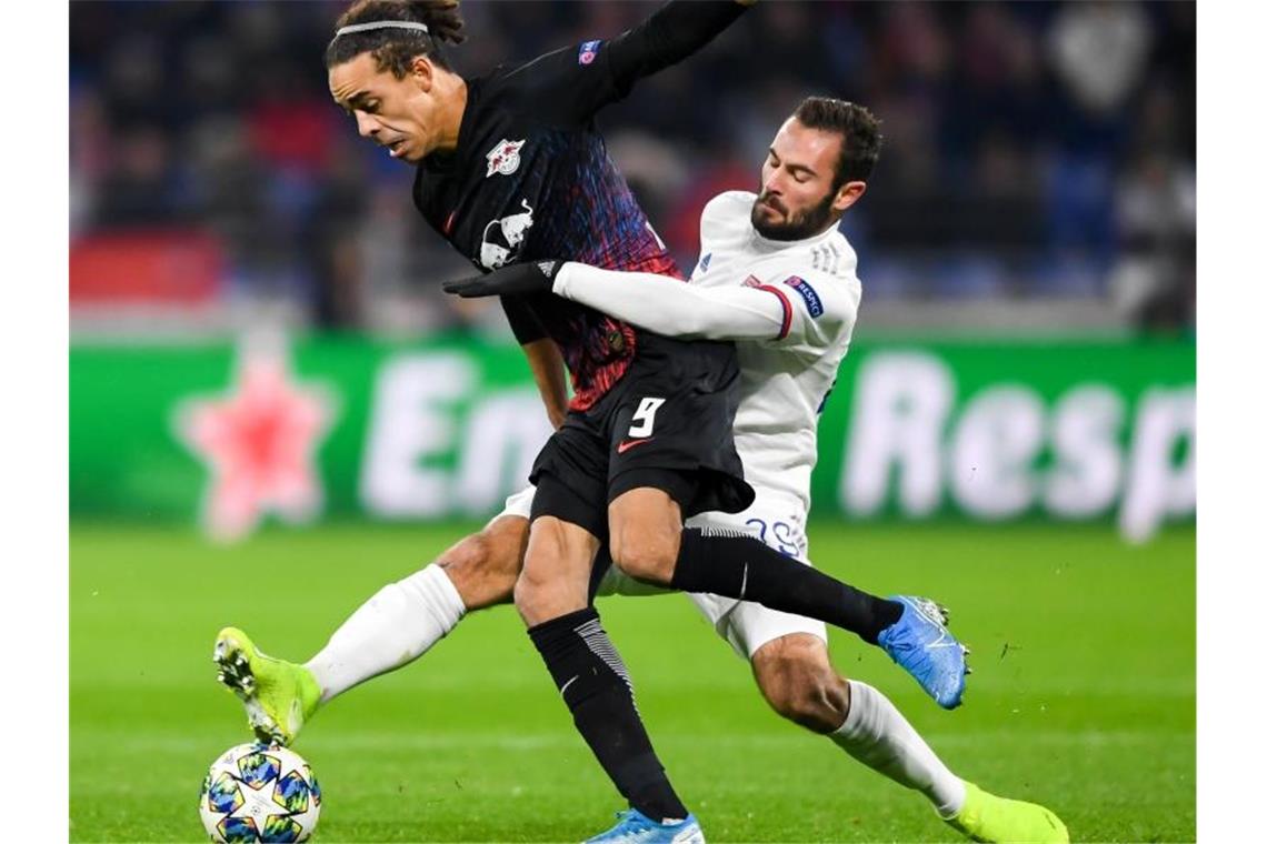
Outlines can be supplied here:
[[[412, 171], [329, 100], [322, 52], [345, 5], [71, 4], [72, 313], [151, 296], [337, 329], [500, 321], [438, 292], [470, 264], [413, 211]], [[464, 0], [469, 40], [449, 56], [479, 75], [655, 6]], [[755, 187], [808, 94], [883, 121], [845, 220], [868, 301], [1077, 300], [1191, 328], [1194, 3], [759, 4], [599, 118], [684, 270], [704, 201]]]

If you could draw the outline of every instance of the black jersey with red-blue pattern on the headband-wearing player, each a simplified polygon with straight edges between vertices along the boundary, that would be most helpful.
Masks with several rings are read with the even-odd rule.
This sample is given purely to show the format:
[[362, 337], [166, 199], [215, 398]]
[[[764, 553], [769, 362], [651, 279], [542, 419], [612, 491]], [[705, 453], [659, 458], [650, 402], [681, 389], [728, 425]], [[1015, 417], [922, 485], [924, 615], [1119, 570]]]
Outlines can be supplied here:
[[[737, 4], [669, 4], [641, 28], [588, 40], [468, 81], [457, 148], [419, 166], [414, 204], [476, 267], [531, 259], [683, 278], [607, 156], [594, 113], [720, 32]], [[674, 33], [665, 40], [665, 33]], [[541, 294], [503, 301], [521, 343], [554, 339], [571, 375], [571, 407], [593, 405], [654, 335]]]

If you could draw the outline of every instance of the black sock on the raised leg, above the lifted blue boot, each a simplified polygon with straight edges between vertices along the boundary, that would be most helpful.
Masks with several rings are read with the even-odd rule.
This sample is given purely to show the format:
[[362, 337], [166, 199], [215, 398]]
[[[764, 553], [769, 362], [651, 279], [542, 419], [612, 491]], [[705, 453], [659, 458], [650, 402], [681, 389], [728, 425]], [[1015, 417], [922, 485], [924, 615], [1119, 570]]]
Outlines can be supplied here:
[[872, 644], [902, 615], [897, 601], [860, 592], [739, 531], [684, 529], [669, 585], [683, 592], [712, 592], [806, 615]]

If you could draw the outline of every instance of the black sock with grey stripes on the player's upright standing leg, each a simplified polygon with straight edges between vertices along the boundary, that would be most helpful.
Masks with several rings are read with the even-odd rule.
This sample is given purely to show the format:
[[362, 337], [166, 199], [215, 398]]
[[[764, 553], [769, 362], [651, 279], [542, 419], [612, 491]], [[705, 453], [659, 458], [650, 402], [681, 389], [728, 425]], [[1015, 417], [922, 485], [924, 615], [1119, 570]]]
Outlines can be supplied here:
[[687, 816], [634, 705], [634, 686], [593, 607], [528, 629], [573, 723], [630, 805], [655, 821]]

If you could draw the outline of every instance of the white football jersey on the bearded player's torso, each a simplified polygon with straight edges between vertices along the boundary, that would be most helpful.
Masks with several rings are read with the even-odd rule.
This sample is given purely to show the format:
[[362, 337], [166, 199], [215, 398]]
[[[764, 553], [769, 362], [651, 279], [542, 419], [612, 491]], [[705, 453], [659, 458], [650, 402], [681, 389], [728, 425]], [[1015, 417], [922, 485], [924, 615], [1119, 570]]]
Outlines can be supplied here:
[[778, 337], [735, 343], [741, 369], [735, 447], [750, 485], [794, 496], [808, 512], [818, 414], [849, 351], [862, 299], [858, 256], [835, 227], [803, 240], [763, 238], [751, 223], [755, 200], [729, 191], [708, 202], [691, 285], [746, 285], [780, 300]]

